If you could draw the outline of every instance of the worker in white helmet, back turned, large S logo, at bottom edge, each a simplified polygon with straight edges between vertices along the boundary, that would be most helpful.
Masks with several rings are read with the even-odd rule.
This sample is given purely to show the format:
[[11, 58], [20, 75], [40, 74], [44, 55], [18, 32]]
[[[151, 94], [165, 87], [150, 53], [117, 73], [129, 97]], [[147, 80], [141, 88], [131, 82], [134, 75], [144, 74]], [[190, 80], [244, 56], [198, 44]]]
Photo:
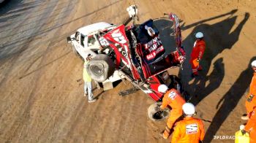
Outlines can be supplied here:
[[176, 123], [171, 142], [203, 142], [205, 136], [203, 121], [192, 117], [195, 115], [195, 106], [191, 103], [185, 103], [182, 109], [184, 119]]

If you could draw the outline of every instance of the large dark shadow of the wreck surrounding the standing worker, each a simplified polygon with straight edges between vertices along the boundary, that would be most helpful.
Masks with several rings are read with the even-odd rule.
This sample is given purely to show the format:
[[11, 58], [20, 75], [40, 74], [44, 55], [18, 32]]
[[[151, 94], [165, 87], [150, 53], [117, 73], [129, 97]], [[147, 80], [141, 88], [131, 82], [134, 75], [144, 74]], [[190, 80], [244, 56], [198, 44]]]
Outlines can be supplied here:
[[[219, 53], [222, 53], [223, 50], [231, 49], [233, 45], [238, 41], [238, 37], [241, 33], [242, 27], [249, 19], [249, 13], [245, 13], [244, 19], [241, 20], [240, 23], [238, 23], [238, 26], [235, 26], [236, 28], [233, 31], [231, 31], [231, 28], [233, 28], [237, 19], [237, 16], [233, 15], [235, 12], [236, 10], [233, 10], [225, 15], [222, 15], [229, 15], [229, 17], [227, 17], [225, 20], [220, 21], [219, 23], [215, 23], [212, 25], [201, 24], [199, 26], [196, 26], [192, 31], [192, 34], [189, 34], [189, 36], [184, 39], [183, 45], [187, 52], [187, 60], [184, 63], [184, 70], [180, 71], [179, 73], [179, 77], [181, 77], [184, 86], [189, 88], [189, 93], [194, 95], [194, 98], [192, 98], [194, 104], [198, 104], [203, 98], [208, 96], [208, 94], [219, 88], [219, 85], [224, 78], [225, 70], [222, 58], [219, 58], [217, 59], [217, 61], [214, 62], [214, 70], [211, 72], [211, 74], [207, 74], [210, 69], [212, 60], [217, 55], [219, 55]], [[209, 18], [209, 20], [212, 19]], [[183, 28], [186, 29], [189, 26], [185, 26]], [[189, 81], [192, 80], [192, 69], [188, 61], [192, 50], [192, 43], [195, 42], [195, 33], [197, 31], [203, 31], [205, 35], [206, 51], [203, 55], [203, 59], [201, 62], [203, 66], [203, 71], [200, 71], [200, 76], [196, 77], [194, 82], [189, 85]], [[206, 82], [209, 82], [209, 84], [206, 85]]]

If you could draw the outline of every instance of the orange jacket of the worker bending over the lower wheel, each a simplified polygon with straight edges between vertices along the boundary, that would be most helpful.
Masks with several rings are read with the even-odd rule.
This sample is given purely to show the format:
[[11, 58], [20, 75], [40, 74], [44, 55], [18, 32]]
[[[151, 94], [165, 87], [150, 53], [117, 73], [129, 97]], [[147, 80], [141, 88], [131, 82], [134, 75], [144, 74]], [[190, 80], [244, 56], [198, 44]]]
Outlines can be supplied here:
[[165, 109], [167, 105], [169, 105], [173, 110], [182, 110], [182, 105], [185, 103], [186, 101], [181, 97], [181, 93], [172, 88], [168, 90], [167, 93], [165, 93], [164, 98], [162, 98], [161, 108]]

